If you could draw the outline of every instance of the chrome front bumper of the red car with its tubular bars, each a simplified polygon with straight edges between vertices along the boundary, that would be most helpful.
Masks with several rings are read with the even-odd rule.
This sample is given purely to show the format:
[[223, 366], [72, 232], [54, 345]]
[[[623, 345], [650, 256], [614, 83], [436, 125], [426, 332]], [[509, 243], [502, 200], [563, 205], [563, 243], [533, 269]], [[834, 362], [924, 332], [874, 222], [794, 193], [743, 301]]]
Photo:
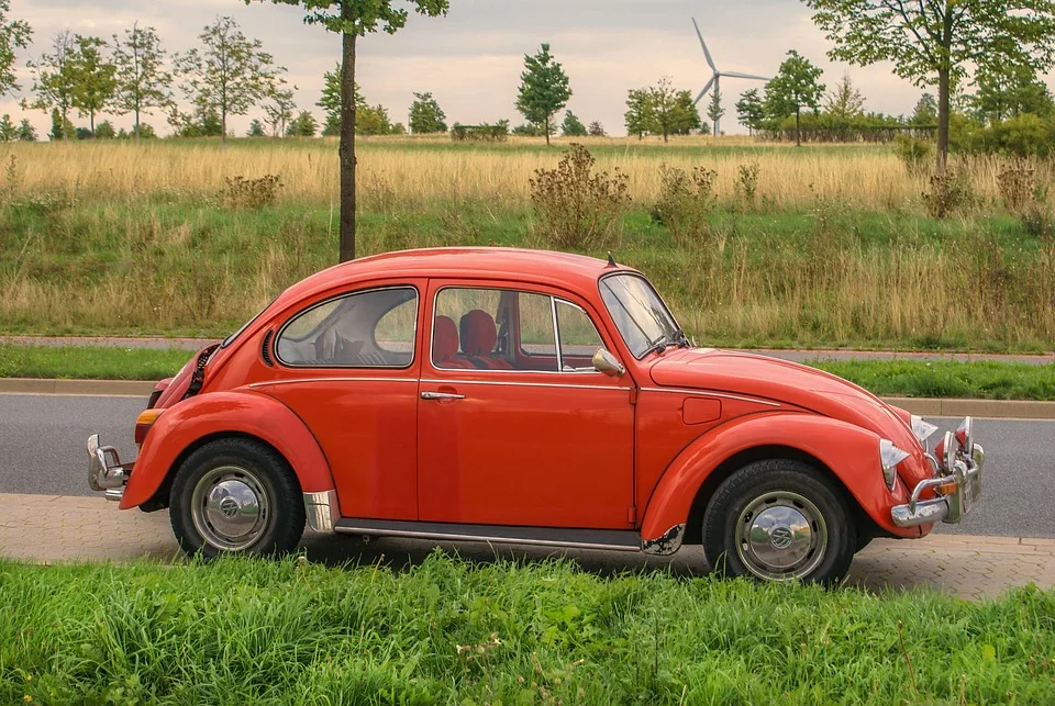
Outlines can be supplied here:
[[[946, 437], [946, 444], [951, 437]], [[956, 445], [955, 438], [952, 438], [952, 444]], [[974, 508], [975, 502], [981, 496], [981, 470], [986, 452], [980, 444], [971, 444], [969, 455], [965, 449], [959, 449], [948, 458], [948, 463], [935, 463], [940, 469], [937, 477], [921, 481], [912, 491], [908, 505], [896, 505], [890, 511], [895, 525], [919, 527], [937, 522], [956, 524]], [[940, 489], [941, 494], [933, 500], [921, 501], [920, 495], [928, 489]]]

